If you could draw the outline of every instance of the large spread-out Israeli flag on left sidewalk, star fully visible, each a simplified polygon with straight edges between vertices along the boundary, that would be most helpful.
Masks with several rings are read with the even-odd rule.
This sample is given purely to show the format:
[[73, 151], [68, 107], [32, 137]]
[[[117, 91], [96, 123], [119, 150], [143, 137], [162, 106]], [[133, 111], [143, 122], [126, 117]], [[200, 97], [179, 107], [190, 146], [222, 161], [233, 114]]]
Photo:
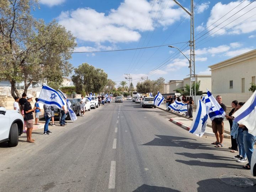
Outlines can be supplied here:
[[38, 102], [47, 106], [55, 106], [59, 109], [65, 105], [60, 94], [46, 84], [43, 84], [42, 90], [38, 97]]

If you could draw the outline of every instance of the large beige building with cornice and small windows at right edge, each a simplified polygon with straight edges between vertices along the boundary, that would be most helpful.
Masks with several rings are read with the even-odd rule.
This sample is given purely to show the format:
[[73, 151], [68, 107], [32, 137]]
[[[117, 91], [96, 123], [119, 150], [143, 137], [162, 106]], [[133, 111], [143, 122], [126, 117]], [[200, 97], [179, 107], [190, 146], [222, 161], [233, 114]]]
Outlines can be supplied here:
[[255, 83], [256, 49], [223, 62], [210, 65], [213, 93], [249, 93]]

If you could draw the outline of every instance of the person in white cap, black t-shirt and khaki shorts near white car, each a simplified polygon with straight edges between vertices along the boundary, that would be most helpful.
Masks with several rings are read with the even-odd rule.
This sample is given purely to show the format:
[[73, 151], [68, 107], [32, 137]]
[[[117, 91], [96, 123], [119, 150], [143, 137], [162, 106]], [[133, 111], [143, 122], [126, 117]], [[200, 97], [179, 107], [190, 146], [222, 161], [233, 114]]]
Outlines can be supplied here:
[[27, 142], [34, 143], [32, 139], [32, 130], [33, 130], [33, 112], [36, 110], [36, 107], [32, 108], [30, 102], [32, 101], [33, 95], [27, 95], [27, 101], [24, 105], [24, 121], [27, 126]]

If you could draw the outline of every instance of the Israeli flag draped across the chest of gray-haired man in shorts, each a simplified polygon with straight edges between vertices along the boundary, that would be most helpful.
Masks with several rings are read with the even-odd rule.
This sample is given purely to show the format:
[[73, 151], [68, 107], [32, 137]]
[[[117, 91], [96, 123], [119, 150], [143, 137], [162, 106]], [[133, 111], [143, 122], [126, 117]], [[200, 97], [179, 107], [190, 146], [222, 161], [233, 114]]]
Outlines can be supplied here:
[[208, 115], [211, 121], [213, 121], [213, 119], [218, 117], [224, 118], [226, 115], [225, 111], [223, 110], [222, 107], [220, 107], [218, 101], [214, 98], [214, 96], [211, 94], [209, 90], [207, 91], [207, 97], [208, 98], [206, 98], [205, 103], [209, 107]]

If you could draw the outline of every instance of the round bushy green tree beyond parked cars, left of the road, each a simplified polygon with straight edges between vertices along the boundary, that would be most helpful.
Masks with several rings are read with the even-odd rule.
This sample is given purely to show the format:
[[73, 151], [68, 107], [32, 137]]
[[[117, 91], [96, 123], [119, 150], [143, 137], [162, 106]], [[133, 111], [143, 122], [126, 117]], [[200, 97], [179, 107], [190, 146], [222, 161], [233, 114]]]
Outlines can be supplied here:
[[107, 74], [103, 69], [95, 68], [87, 63], [82, 63], [78, 68], [74, 69], [75, 74], [72, 81], [76, 86], [76, 92], [81, 93], [82, 90], [88, 94], [89, 92], [100, 92], [107, 84]]

